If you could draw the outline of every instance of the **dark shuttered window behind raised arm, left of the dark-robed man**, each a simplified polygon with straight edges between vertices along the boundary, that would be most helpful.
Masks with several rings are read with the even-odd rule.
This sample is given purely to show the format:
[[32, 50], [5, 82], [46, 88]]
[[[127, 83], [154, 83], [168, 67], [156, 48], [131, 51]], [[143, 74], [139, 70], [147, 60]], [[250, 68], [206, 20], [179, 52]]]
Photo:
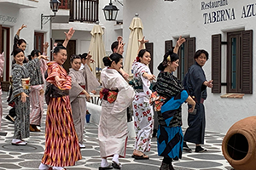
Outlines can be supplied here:
[[[178, 49], [179, 56], [179, 66], [177, 67], [177, 78], [181, 81], [183, 77], [189, 70], [189, 67], [194, 64], [194, 54], [195, 54], [195, 37], [185, 38], [186, 42]], [[165, 51], [167, 52], [170, 48], [173, 48], [172, 40], [167, 40], [165, 44]]]

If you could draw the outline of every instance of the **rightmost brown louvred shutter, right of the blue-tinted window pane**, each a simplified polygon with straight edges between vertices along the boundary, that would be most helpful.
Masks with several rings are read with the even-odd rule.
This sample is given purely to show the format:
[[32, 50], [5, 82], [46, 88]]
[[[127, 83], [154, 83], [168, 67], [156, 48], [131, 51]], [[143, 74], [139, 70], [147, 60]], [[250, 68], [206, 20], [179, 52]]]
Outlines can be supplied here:
[[241, 93], [253, 94], [253, 30], [242, 31]]

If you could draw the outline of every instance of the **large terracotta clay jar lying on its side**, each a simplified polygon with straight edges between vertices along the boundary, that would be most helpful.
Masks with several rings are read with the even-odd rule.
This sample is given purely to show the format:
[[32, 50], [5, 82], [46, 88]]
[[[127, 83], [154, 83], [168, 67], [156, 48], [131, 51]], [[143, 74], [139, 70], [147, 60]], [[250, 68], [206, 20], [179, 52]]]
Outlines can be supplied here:
[[236, 170], [255, 170], [256, 116], [236, 122], [224, 137], [223, 155]]

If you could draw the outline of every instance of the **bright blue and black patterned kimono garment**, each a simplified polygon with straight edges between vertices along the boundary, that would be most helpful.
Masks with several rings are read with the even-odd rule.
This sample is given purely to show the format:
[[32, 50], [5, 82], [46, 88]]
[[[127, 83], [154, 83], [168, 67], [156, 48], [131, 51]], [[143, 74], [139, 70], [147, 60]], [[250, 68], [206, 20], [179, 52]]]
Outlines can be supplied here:
[[159, 128], [157, 132], [158, 155], [170, 158], [181, 158], [183, 150], [182, 111], [181, 105], [189, 94], [182, 83], [170, 72], [160, 72], [155, 91], [166, 100], [160, 111], [157, 111]]

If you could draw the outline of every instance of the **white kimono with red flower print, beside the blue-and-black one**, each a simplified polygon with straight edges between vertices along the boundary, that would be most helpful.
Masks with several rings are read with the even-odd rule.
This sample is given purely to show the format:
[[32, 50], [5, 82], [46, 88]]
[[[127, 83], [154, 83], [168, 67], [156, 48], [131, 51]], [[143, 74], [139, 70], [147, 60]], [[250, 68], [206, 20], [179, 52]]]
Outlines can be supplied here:
[[132, 101], [136, 140], [134, 149], [142, 152], [150, 150], [150, 144], [154, 128], [154, 111], [149, 105], [152, 91], [149, 89], [151, 82], [143, 77], [143, 73], [151, 74], [147, 65], [134, 62], [132, 65], [133, 79], [138, 82], [141, 89], [136, 90]]

